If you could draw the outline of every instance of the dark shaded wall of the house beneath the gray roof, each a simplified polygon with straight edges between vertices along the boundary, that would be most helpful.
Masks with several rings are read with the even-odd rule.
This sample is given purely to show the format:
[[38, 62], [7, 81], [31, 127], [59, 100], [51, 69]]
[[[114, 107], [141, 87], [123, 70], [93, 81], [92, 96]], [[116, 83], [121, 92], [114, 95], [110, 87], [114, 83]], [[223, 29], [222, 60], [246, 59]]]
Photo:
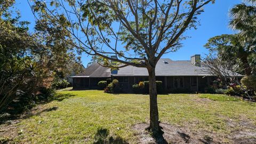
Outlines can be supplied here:
[[[73, 78], [74, 89], [98, 88], [99, 81], [106, 81], [108, 77], [78, 77]], [[123, 91], [132, 91], [132, 85], [139, 82], [148, 81], [147, 76], [113, 76], [117, 79]], [[156, 81], [163, 82], [163, 88], [167, 91], [186, 90], [186, 91], [204, 91], [205, 87], [211, 85], [216, 77], [205, 76], [157, 76]]]

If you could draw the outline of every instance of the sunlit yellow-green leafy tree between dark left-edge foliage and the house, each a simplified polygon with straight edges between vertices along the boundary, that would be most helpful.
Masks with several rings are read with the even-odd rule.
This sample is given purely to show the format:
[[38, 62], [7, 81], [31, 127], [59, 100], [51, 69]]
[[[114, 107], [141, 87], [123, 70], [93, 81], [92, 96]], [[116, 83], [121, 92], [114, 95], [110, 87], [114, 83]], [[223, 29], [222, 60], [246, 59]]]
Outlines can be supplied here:
[[75, 53], [74, 46], [69, 44], [72, 41], [69, 36], [70, 33], [55, 19], [39, 14], [34, 33], [38, 46], [31, 50], [31, 54], [41, 66], [43, 74], [61, 73], [63, 78], [73, 71], [81, 72], [80, 52]]

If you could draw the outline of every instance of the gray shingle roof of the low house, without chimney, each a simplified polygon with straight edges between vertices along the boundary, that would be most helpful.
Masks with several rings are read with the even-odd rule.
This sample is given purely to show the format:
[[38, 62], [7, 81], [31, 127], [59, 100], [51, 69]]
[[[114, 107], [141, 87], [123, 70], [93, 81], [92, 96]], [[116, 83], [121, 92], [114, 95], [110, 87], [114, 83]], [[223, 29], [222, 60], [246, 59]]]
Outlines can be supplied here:
[[[164, 62], [166, 61], [166, 62]], [[156, 65], [156, 76], [210, 76], [204, 67], [197, 67], [189, 60], [173, 61], [171, 59], [159, 59]], [[146, 68], [127, 66], [119, 68], [113, 76], [148, 76]], [[93, 63], [83, 73], [74, 77], [111, 77], [110, 68]]]

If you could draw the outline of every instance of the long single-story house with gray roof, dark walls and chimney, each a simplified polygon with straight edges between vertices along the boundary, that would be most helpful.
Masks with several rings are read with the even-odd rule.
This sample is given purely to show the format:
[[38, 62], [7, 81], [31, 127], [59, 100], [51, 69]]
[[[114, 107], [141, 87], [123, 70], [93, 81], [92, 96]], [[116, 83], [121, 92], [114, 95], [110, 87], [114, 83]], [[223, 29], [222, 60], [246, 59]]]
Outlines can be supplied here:
[[[199, 54], [193, 55], [190, 60], [160, 59], [156, 65], [156, 80], [163, 82], [165, 90], [204, 91], [217, 77], [207, 73], [201, 66], [200, 59]], [[123, 91], [131, 91], [133, 84], [148, 81], [148, 71], [134, 66], [111, 71], [110, 68], [93, 63], [83, 73], [71, 78], [74, 82], [73, 89], [97, 88], [99, 81], [111, 78], [118, 79]]]

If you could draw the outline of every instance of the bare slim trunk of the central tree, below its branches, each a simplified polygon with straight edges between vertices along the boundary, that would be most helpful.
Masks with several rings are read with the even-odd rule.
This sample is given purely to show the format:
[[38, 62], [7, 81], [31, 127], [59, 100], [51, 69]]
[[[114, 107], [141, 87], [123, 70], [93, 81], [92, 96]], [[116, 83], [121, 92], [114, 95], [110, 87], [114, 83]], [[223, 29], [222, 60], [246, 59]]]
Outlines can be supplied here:
[[150, 126], [154, 137], [159, 143], [163, 141], [163, 133], [159, 126], [158, 107], [157, 107], [157, 91], [156, 91], [156, 73], [155, 68], [148, 68], [149, 74], [149, 99], [150, 99]]

